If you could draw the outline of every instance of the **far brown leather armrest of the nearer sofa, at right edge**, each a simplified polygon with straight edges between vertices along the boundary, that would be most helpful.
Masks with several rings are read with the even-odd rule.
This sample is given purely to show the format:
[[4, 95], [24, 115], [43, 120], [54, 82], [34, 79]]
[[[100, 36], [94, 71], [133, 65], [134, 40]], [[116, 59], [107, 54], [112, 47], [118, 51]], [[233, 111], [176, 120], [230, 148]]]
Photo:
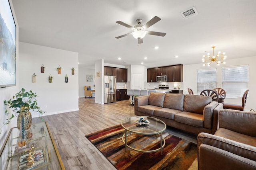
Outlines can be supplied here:
[[219, 128], [256, 137], [256, 113], [222, 109], [218, 115]]

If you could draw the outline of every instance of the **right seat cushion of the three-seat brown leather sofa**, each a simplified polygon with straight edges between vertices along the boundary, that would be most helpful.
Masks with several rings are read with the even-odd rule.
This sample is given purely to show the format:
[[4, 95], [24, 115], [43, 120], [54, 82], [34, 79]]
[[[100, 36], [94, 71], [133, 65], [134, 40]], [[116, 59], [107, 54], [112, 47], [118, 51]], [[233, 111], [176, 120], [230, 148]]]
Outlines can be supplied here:
[[174, 115], [174, 120], [187, 125], [204, 127], [203, 115], [198, 113], [182, 111]]

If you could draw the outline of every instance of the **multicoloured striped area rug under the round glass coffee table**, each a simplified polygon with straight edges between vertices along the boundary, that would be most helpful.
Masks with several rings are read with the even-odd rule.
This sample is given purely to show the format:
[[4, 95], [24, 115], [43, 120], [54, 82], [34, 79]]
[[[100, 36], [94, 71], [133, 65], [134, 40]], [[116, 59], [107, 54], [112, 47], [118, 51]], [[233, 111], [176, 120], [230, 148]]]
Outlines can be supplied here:
[[[116, 167], [118, 170], [196, 170], [196, 144], [163, 133], [166, 144], [161, 152], [144, 153], [127, 148], [122, 141], [124, 128], [116, 125], [85, 137]], [[160, 147], [160, 136], [137, 135], [131, 133], [128, 145], [141, 150], [154, 150]], [[154, 142], [158, 141], [158, 142]], [[193, 163], [194, 162], [194, 163]]]

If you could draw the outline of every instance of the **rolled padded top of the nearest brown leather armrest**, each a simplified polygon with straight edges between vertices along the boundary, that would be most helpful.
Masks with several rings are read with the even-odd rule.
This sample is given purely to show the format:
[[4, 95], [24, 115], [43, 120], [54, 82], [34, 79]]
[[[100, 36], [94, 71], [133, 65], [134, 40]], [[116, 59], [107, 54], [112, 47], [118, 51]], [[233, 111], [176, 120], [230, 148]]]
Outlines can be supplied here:
[[201, 144], [211, 145], [213, 147], [226, 150], [227, 152], [242, 156], [244, 158], [256, 161], [256, 147], [232, 141], [223, 137], [209, 133], [199, 133], [197, 137], [197, 146]]

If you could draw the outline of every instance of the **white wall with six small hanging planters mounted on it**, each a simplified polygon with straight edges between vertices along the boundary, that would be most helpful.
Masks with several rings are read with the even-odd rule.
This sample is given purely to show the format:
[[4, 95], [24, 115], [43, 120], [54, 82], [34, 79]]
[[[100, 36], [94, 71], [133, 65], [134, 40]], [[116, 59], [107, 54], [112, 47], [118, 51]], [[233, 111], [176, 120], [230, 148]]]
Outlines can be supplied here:
[[[78, 110], [78, 53], [20, 42], [19, 89], [32, 90], [38, 94], [39, 107], [44, 115]], [[45, 72], [41, 73], [44, 64]], [[61, 74], [56, 68], [61, 66]], [[71, 74], [71, 68], [75, 74]], [[32, 75], [36, 74], [36, 83]], [[48, 76], [54, 78], [48, 82]], [[68, 75], [68, 83], [65, 76]], [[32, 113], [32, 117], [38, 113]]]

